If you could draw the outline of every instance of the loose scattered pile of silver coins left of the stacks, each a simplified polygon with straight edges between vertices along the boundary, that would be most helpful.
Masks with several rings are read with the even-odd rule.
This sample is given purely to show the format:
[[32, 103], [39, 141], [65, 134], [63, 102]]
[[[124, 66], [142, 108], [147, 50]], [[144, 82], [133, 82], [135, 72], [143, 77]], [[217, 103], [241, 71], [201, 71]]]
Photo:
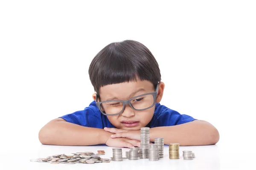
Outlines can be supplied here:
[[[105, 152], [104, 152], [105, 153]], [[93, 163], [108, 163], [110, 159], [102, 159], [100, 156], [93, 152], [77, 152], [71, 153], [72, 156], [65, 154], [58, 154], [47, 156], [47, 158], [31, 159], [33, 162], [48, 162], [51, 164], [93, 164]]]

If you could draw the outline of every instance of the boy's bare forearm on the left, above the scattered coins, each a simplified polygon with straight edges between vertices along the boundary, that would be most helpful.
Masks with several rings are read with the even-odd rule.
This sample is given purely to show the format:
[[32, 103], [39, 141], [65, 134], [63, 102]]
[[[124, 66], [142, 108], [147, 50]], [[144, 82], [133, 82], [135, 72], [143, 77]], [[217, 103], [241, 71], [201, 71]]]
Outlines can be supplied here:
[[105, 144], [112, 133], [65, 121], [49, 122], [39, 132], [42, 144], [86, 146]]

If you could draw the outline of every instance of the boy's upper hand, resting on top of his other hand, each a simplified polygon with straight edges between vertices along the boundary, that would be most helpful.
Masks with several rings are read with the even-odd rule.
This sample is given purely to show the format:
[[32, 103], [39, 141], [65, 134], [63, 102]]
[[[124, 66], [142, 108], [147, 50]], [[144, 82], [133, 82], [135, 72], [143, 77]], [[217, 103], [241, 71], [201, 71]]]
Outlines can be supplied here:
[[140, 141], [140, 130], [123, 130], [117, 128], [104, 128], [105, 131], [115, 133], [111, 135], [111, 138], [127, 138]]

